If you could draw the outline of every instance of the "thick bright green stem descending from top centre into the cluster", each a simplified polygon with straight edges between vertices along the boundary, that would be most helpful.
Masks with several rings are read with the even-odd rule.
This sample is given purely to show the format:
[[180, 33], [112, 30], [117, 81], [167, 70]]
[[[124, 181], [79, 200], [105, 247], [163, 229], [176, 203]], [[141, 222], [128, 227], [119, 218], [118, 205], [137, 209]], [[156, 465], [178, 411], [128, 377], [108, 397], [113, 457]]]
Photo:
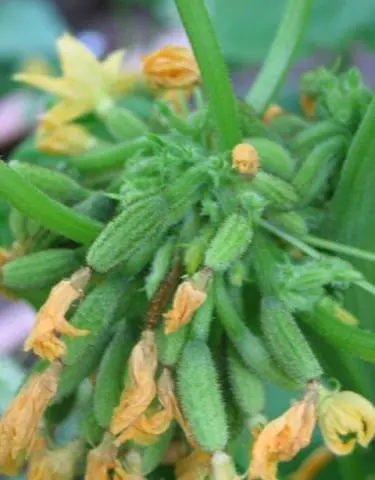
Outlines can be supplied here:
[[208, 96], [223, 150], [241, 141], [241, 128], [227, 68], [203, 0], [175, 0]]

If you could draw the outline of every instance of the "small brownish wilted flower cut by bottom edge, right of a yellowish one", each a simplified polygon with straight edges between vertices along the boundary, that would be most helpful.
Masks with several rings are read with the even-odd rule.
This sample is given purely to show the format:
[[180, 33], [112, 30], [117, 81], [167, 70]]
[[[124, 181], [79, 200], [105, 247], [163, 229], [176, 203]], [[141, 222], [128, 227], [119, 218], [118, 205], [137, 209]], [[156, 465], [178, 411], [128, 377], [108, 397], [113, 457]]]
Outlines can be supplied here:
[[116, 456], [116, 446], [111, 437], [105, 435], [102, 443], [87, 456], [85, 480], [110, 480], [109, 472], [115, 468]]

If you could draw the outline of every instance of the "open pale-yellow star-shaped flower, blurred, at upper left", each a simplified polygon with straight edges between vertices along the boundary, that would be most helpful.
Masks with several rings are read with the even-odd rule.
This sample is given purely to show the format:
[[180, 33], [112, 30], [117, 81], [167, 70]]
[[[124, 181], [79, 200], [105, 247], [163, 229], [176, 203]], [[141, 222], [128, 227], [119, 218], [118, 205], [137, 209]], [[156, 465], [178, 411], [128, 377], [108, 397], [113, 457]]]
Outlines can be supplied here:
[[15, 80], [53, 93], [61, 98], [43, 117], [48, 125], [68, 123], [89, 112], [104, 112], [112, 105], [123, 50], [98, 61], [79, 40], [65, 33], [57, 40], [57, 52], [63, 75], [18, 73]]

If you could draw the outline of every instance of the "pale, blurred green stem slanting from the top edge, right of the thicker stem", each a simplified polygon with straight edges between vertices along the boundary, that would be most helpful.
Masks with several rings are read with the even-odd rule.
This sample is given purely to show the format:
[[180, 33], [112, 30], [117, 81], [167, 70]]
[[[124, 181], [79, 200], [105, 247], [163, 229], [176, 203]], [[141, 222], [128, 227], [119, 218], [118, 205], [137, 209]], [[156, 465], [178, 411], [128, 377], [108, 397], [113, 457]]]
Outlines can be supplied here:
[[263, 67], [246, 101], [262, 115], [293, 61], [311, 10], [311, 0], [289, 0]]

